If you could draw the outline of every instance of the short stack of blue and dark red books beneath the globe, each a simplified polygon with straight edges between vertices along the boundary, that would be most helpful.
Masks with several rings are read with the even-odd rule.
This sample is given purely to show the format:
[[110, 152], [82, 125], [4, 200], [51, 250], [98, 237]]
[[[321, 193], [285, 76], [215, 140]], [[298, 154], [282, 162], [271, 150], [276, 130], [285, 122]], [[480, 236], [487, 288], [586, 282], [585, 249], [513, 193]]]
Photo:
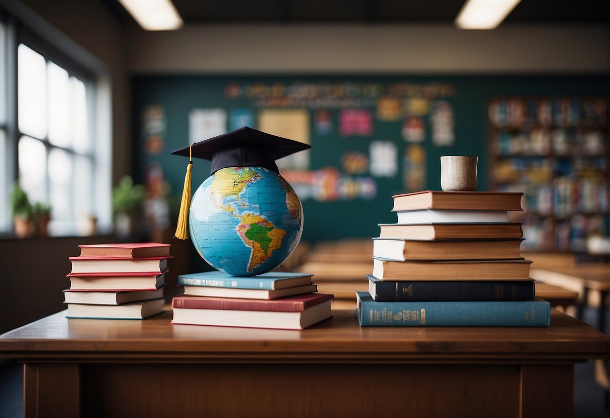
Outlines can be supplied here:
[[312, 274], [269, 272], [235, 277], [218, 271], [178, 276], [173, 324], [301, 330], [332, 316], [332, 294], [319, 294]]

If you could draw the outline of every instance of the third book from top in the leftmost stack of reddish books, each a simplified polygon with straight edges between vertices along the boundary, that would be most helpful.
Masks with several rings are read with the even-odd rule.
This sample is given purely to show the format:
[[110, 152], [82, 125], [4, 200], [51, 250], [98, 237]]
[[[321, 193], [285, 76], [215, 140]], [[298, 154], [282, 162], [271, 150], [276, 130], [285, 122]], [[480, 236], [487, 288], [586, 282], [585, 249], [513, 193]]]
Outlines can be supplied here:
[[165, 271], [135, 273], [68, 274], [70, 291], [156, 290], [165, 284]]

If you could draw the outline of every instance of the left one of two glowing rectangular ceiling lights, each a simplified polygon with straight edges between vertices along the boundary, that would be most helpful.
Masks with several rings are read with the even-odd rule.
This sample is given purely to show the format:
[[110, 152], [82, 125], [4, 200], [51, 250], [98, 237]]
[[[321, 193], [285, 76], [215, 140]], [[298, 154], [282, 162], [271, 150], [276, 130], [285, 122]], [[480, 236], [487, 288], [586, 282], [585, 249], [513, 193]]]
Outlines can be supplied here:
[[171, 0], [118, 0], [145, 30], [173, 30], [182, 27], [182, 18]]

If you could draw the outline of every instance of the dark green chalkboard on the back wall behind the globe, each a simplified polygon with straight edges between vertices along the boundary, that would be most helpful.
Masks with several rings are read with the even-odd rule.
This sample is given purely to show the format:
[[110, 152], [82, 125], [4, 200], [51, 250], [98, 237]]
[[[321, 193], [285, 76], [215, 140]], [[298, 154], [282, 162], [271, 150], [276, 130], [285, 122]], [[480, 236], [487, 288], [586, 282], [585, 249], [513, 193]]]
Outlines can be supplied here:
[[[478, 155], [479, 190], [487, 190], [489, 170], [487, 104], [495, 96], [608, 96], [607, 76], [134, 76], [133, 135], [134, 177], [143, 182], [151, 164], [162, 169], [171, 185], [171, 200], [182, 193], [187, 158], [170, 152], [189, 143], [189, 114], [193, 109], [221, 109], [228, 116], [245, 112], [252, 116], [268, 109], [301, 109], [309, 117], [310, 177], [334, 168], [339, 195], [303, 198], [303, 239], [315, 242], [341, 238], [370, 237], [379, 233], [378, 223], [395, 222], [392, 195], [409, 191], [409, 150], [423, 151], [423, 190], [440, 189], [441, 155]], [[424, 99], [425, 110], [409, 106], [412, 99]], [[433, 115], [439, 102], [451, 109], [454, 143], [439, 146], [434, 141]], [[387, 110], [390, 116], [380, 109]], [[398, 110], [392, 105], [398, 105]], [[151, 146], [149, 110], [160, 110], [162, 129]], [[365, 132], [342, 132], [345, 113], [364, 110]], [[398, 113], [395, 111], [397, 110]], [[323, 130], [320, 113], [330, 116], [331, 129]], [[381, 112], [381, 113], [380, 113]], [[393, 113], [394, 112], [394, 113]], [[418, 116], [423, 126], [423, 141], [410, 143], [403, 137], [406, 118]], [[361, 115], [362, 116], [362, 115]], [[446, 116], [446, 115], [445, 115]], [[384, 120], [388, 119], [388, 120]], [[447, 122], [447, 120], [445, 120]], [[148, 130], [147, 130], [148, 129]], [[153, 130], [154, 131], [154, 130]], [[421, 133], [422, 131], [420, 131]], [[364, 133], [364, 134], [363, 134]], [[156, 133], [155, 133], [156, 135]], [[154, 136], [154, 135], [153, 135]], [[416, 135], [417, 136], [417, 135]], [[204, 139], [204, 138], [201, 138]], [[371, 158], [371, 143], [392, 143], [396, 150], [397, 171], [389, 177], [375, 175], [365, 165], [359, 172], [346, 172], [342, 158], [348, 155]], [[416, 145], [414, 147], [414, 144]], [[355, 153], [355, 154], [354, 154]], [[408, 154], [412, 155], [412, 154]], [[361, 161], [362, 162], [362, 161]], [[352, 168], [350, 168], [351, 170]], [[209, 176], [209, 161], [195, 161], [193, 193]], [[319, 187], [321, 182], [310, 185]], [[319, 180], [319, 178], [318, 178]], [[414, 180], [414, 177], [411, 178]], [[291, 183], [292, 181], [289, 180]], [[372, 181], [375, 193], [352, 196], [350, 187]], [[327, 182], [328, 183], [328, 182]], [[295, 186], [297, 193], [299, 188]], [[311, 188], [309, 189], [311, 190]], [[174, 206], [175, 207], [175, 206]]]

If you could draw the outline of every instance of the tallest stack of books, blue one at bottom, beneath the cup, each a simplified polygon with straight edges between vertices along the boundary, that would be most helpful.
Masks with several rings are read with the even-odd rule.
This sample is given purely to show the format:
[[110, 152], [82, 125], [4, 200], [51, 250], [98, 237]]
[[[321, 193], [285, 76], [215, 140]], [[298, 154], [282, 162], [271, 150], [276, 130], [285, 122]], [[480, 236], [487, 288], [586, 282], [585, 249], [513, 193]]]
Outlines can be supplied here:
[[423, 191], [393, 196], [397, 224], [373, 238], [362, 326], [547, 327], [531, 261], [520, 257], [522, 193]]

